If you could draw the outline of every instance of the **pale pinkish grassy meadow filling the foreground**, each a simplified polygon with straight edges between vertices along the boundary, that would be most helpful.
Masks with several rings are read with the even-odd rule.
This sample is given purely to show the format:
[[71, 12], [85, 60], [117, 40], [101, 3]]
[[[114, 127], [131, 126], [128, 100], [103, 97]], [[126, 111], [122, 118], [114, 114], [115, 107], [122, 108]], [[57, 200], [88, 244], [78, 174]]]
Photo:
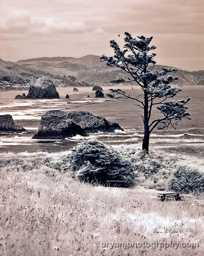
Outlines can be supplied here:
[[[160, 202], [156, 190], [94, 187], [56, 171], [59, 155], [35, 155], [0, 155], [0, 256], [203, 255], [204, 200]], [[170, 236], [175, 224], [184, 233]], [[164, 227], [168, 233], [153, 232]]]

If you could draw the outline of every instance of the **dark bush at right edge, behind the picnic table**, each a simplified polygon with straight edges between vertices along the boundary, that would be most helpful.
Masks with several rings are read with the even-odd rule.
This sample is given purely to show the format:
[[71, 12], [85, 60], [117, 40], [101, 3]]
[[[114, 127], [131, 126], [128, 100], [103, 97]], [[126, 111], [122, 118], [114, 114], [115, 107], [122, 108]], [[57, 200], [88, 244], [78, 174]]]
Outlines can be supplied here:
[[177, 192], [204, 192], [204, 173], [194, 167], [178, 166], [169, 187]]

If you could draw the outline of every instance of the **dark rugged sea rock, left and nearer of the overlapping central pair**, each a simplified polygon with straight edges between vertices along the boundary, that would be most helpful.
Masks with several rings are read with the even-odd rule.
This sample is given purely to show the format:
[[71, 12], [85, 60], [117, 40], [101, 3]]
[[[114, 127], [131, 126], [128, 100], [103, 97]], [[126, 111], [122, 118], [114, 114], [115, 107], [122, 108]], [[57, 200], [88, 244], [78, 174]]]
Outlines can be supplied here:
[[48, 111], [41, 117], [40, 126], [33, 139], [65, 138], [75, 135], [88, 136], [68, 114], [61, 110]]

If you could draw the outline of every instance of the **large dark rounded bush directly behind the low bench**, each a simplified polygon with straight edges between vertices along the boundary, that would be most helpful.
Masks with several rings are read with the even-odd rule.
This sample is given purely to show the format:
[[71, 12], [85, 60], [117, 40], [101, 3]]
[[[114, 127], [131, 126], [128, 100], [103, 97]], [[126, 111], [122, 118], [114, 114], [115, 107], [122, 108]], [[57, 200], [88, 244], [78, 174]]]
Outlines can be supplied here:
[[71, 152], [68, 168], [72, 177], [94, 184], [106, 185], [107, 180], [125, 180], [126, 187], [133, 185], [135, 175], [131, 163], [98, 140], [79, 143]]

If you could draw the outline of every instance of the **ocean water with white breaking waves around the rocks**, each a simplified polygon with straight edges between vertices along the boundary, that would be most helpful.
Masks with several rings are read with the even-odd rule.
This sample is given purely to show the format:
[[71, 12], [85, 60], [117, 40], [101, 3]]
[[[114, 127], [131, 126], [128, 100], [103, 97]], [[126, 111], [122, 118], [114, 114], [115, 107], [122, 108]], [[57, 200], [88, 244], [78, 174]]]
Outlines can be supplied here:
[[[138, 115], [142, 114], [142, 110], [131, 99], [108, 98], [106, 94], [109, 93], [110, 88], [126, 90], [133, 97], [141, 94], [139, 87], [132, 88], [131, 86], [103, 87], [105, 98], [101, 99], [94, 97], [95, 92], [92, 91], [92, 87], [78, 87], [79, 92], [73, 92], [73, 87], [58, 87], [60, 99], [14, 99], [17, 94], [27, 94], [28, 91], [1, 91], [0, 115], [12, 115], [14, 122], [26, 128], [28, 133], [0, 134], [0, 152], [65, 151], [88, 138], [97, 138], [110, 145], [142, 144], [143, 122], [141, 116]], [[66, 94], [70, 96], [70, 99], [65, 99]], [[192, 119], [183, 119], [178, 124], [176, 131], [173, 128], [168, 128], [166, 131], [154, 130], [150, 136], [150, 148], [158, 147], [170, 151], [176, 151], [178, 148], [180, 151], [185, 151], [188, 148], [187, 151], [189, 151], [189, 147], [192, 147], [195, 154], [201, 154], [204, 146], [204, 113], [202, 112], [204, 109], [204, 86], [183, 86], [182, 91], [175, 99], [185, 99], [189, 96], [191, 100], [187, 106]], [[98, 132], [90, 134], [88, 138], [75, 136], [63, 140], [32, 139], [40, 124], [41, 116], [50, 110], [62, 110], [67, 113], [88, 111], [96, 116], [104, 116], [109, 121], [119, 123], [124, 131]], [[154, 109], [152, 113], [152, 119], [159, 117], [157, 109]]]

